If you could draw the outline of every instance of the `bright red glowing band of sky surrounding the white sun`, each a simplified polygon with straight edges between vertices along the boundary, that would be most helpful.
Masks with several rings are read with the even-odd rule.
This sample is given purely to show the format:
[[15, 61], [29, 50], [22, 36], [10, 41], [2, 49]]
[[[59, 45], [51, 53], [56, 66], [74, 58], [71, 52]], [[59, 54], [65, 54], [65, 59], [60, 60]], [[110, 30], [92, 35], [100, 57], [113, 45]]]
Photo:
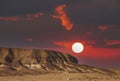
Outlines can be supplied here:
[[[84, 45], [83, 52], [76, 54], [72, 51], [72, 44], [75, 42], [81, 42]], [[59, 50], [66, 53], [70, 53], [74, 56], [88, 56], [92, 58], [105, 59], [105, 58], [114, 58], [120, 57], [120, 48], [95, 48], [92, 46], [86, 45], [82, 41], [66, 41], [66, 42], [54, 42], [54, 44], [60, 46]]]

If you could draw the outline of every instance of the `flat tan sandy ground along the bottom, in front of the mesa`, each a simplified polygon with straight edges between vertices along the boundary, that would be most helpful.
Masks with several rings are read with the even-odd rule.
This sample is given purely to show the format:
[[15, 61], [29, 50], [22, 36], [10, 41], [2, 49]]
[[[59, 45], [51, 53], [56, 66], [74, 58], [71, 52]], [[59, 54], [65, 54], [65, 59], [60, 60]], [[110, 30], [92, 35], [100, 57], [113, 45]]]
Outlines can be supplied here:
[[52, 73], [23, 76], [0, 76], [0, 81], [120, 81], [120, 76], [98, 73]]

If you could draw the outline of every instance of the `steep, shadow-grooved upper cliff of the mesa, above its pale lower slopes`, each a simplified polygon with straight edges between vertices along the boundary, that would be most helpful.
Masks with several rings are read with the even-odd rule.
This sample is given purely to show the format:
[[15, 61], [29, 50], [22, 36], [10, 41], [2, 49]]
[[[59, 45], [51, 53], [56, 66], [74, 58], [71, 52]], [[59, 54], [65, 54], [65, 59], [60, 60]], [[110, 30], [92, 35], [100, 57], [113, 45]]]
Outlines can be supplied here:
[[3, 64], [62, 64], [65, 62], [78, 63], [73, 56], [57, 51], [0, 48], [0, 63]]

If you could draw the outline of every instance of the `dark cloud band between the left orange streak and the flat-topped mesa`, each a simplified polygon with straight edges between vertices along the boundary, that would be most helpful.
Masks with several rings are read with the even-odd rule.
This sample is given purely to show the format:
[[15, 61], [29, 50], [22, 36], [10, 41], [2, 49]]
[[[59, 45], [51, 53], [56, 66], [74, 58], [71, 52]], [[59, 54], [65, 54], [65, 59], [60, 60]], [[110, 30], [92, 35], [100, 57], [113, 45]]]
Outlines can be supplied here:
[[[69, 38], [67, 37], [69, 33], [62, 27], [60, 20], [47, 15], [30, 21], [0, 21], [0, 26], [2, 46], [12, 46], [12, 44], [24, 46], [26, 43], [26, 46], [49, 47], [53, 46], [52, 42], [55, 40]], [[26, 39], [32, 41], [28, 42]]]

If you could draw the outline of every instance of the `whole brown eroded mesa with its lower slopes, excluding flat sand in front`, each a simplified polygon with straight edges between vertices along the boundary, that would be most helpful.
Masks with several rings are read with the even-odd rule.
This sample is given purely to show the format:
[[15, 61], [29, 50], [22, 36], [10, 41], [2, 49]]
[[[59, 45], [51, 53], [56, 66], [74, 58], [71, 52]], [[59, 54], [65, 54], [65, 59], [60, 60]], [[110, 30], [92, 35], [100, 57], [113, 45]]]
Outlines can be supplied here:
[[79, 65], [75, 57], [58, 51], [0, 48], [0, 73], [36, 72], [98, 72], [114, 73], [86, 65]]

